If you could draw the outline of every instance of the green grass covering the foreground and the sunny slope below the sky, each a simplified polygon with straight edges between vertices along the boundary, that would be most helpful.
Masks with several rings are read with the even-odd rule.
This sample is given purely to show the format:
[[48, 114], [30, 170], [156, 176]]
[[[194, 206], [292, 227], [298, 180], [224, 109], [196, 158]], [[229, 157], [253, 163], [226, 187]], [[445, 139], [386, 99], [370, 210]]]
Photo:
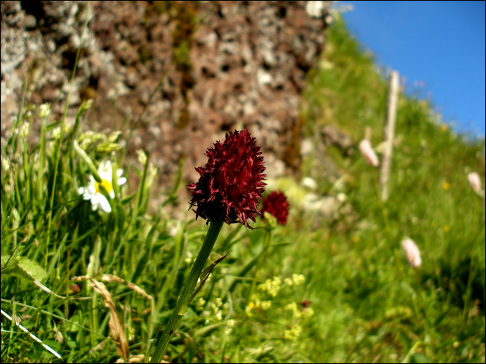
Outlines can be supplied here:
[[[333, 123], [359, 141], [370, 126], [373, 144], [378, 144], [386, 84], [373, 60], [341, 23], [329, 32], [324, 59], [305, 96], [306, 133]], [[359, 163], [360, 155], [344, 158], [329, 150], [341, 173], [354, 166], [342, 191], [358, 218], [315, 229], [311, 216], [294, 209], [289, 224], [273, 230], [276, 246], [259, 269], [257, 283], [281, 278], [275, 297], [264, 286], [251, 290], [251, 281], [244, 280], [255, 275], [255, 268], [227, 293], [234, 276], [265, 245], [268, 230], [267, 225], [254, 232], [225, 226], [211, 259], [230, 254], [199, 294], [206, 304], [196, 298], [187, 310], [169, 356], [185, 362], [194, 357], [199, 362], [484, 362], [485, 227], [482, 202], [466, 179], [466, 171], [484, 173], [484, 141], [464, 141], [441, 127], [430, 110], [425, 101], [401, 98], [392, 196], [385, 206], [377, 198], [378, 171]], [[36, 111], [27, 107], [17, 126]], [[48, 118], [45, 125], [53, 122]], [[76, 293], [70, 288], [76, 282], [69, 279], [117, 275], [155, 297], [152, 303], [126, 286], [106, 283], [131, 354], [144, 354], [158, 322], [165, 322], [175, 305], [190, 268], [188, 252], [194, 258], [206, 229], [201, 221], [194, 223], [192, 213], [187, 222], [170, 220], [163, 205], [158, 216], [146, 215], [150, 173], [131, 199], [121, 189], [112, 202], [114, 213], [93, 213], [89, 202], [76, 200], [53, 209], [49, 228], [51, 196], [53, 206], [78, 198], [77, 189], [89, 173], [71, 147], [73, 139], [83, 146], [81, 131], [68, 132], [58, 144], [51, 129], [41, 131], [45, 144], [41, 139], [40, 146], [31, 147], [16, 135], [1, 150], [11, 162], [8, 169], [2, 163], [2, 257], [14, 252], [36, 261], [47, 271], [42, 283], [59, 295], [94, 299], [67, 301], [40, 291], [26, 277], [2, 274], [1, 307], [23, 316], [22, 324], [66, 361], [115, 361], [115, 344], [106, 339], [109, 313], [103, 298], [87, 282], [78, 282], [81, 292]], [[84, 136], [92, 140], [85, 149], [93, 160], [108, 157], [124, 165], [119, 153], [110, 153], [116, 145]], [[40, 153], [44, 147], [46, 155]], [[319, 164], [311, 155], [305, 161], [311, 167], [304, 172], [317, 180], [319, 191], [329, 191], [331, 182], [316, 168]], [[130, 168], [144, 173], [141, 165]], [[170, 203], [176, 189], [168, 190]], [[401, 252], [403, 236], [414, 239], [422, 251], [424, 264], [417, 271]], [[300, 273], [305, 284], [285, 283], [285, 277]], [[304, 299], [312, 301], [312, 317], [288, 309]], [[267, 302], [265, 309], [258, 301]], [[2, 362], [53, 361], [3, 318], [2, 325]], [[292, 339], [299, 329], [299, 338]], [[55, 342], [60, 333], [63, 342]]]

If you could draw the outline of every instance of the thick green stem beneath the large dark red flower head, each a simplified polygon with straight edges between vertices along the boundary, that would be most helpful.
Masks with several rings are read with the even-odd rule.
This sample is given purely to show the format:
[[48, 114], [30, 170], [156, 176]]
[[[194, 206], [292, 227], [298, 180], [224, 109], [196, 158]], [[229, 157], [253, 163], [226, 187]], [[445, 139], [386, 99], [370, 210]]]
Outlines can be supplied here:
[[185, 309], [187, 309], [187, 306], [190, 304], [190, 297], [192, 293], [194, 293], [197, 280], [203, 271], [212, 247], [215, 246], [216, 239], [221, 231], [221, 227], [223, 227], [223, 223], [224, 220], [222, 219], [210, 223], [208, 234], [206, 235], [206, 239], [204, 239], [203, 247], [199, 251], [199, 254], [197, 254], [196, 261], [194, 262], [194, 266], [192, 266], [189, 274], [189, 279], [187, 279], [183, 293], [177, 301], [176, 309], [174, 309], [172, 312], [169, 322], [167, 322], [167, 326], [162, 332], [162, 336], [160, 337], [156, 351], [153, 353], [150, 361], [151, 363], [160, 363], [160, 361], [162, 361], [162, 356], [164, 356], [167, 345], [169, 345], [169, 340], [171, 339], [172, 335], [174, 335], [174, 331], [176, 331], [178, 323], [181, 321], [184, 315]]

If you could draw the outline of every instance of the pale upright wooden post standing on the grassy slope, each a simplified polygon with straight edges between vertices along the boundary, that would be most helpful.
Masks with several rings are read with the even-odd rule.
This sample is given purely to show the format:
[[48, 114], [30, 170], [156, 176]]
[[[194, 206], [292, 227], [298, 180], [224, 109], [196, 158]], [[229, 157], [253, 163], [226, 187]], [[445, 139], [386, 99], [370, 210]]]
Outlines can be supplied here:
[[399, 73], [392, 71], [389, 79], [387, 114], [385, 127], [383, 128], [383, 141], [386, 141], [385, 150], [381, 159], [380, 191], [381, 200], [388, 200], [389, 196], [389, 171], [392, 166], [393, 141], [395, 137], [396, 108], [399, 103]]

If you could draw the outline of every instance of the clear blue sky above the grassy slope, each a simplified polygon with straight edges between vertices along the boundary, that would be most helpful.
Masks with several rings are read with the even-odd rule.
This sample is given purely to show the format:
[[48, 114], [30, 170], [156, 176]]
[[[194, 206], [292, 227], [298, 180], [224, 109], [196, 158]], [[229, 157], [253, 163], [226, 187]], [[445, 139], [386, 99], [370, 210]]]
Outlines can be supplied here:
[[430, 96], [456, 130], [484, 137], [485, 1], [343, 3], [354, 7], [346, 24], [378, 64], [405, 76], [408, 92]]

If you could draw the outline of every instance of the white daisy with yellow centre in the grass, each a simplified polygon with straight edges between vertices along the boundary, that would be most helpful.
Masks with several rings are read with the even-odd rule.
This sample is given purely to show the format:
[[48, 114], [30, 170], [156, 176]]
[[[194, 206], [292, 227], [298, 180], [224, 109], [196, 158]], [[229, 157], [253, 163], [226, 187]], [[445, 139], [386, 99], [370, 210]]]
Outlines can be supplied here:
[[[78, 189], [78, 193], [80, 195], [83, 195], [83, 200], [91, 200], [91, 208], [93, 211], [96, 210], [98, 207], [101, 207], [101, 210], [110, 213], [111, 212], [110, 202], [108, 202], [108, 199], [105, 196], [103, 196], [103, 193], [101, 193], [99, 186], [101, 184], [101, 186], [103, 186], [104, 189], [106, 189], [106, 191], [110, 195], [110, 198], [115, 197], [115, 191], [113, 191], [113, 184], [112, 184], [111, 162], [110, 161], [101, 162], [101, 164], [98, 167], [98, 173], [99, 176], [101, 177], [101, 183], [94, 180], [94, 177], [90, 175], [89, 184], [85, 187], [80, 187]], [[117, 170], [117, 177], [118, 177], [117, 182], [119, 186], [126, 183], [126, 178], [121, 177], [122, 173], [123, 173], [122, 169]]]

